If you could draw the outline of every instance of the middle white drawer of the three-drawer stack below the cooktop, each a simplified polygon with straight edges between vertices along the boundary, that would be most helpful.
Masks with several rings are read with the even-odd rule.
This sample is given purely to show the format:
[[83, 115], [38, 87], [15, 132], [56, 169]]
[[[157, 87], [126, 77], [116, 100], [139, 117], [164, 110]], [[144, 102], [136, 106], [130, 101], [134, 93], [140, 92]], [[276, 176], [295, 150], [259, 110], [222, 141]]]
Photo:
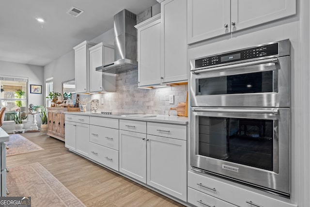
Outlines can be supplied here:
[[90, 125], [89, 141], [118, 150], [119, 130], [115, 128]]

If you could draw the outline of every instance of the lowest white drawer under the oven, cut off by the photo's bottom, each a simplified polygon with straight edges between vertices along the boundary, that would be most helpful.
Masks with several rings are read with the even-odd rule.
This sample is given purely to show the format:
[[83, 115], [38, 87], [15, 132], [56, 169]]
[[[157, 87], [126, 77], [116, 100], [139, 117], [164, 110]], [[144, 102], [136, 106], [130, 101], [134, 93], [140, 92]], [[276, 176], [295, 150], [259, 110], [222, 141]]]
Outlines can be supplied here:
[[237, 207], [213, 196], [188, 188], [188, 203], [197, 207]]

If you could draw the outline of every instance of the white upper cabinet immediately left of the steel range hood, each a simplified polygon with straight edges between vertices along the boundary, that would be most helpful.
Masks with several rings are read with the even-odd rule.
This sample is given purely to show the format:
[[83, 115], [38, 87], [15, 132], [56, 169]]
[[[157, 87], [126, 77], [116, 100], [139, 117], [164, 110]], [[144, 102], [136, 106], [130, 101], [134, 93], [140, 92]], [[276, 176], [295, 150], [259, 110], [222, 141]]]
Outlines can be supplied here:
[[90, 52], [90, 92], [115, 92], [116, 75], [96, 71], [96, 67], [112, 63], [114, 61], [114, 46], [99, 43]]

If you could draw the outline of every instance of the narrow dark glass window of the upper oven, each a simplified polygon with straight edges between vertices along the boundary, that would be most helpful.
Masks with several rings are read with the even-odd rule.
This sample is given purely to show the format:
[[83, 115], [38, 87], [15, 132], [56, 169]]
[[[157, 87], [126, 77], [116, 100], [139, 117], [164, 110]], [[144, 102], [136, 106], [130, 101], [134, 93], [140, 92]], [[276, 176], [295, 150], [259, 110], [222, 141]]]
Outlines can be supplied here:
[[198, 80], [198, 95], [273, 92], [273, 72], [257, 72]]

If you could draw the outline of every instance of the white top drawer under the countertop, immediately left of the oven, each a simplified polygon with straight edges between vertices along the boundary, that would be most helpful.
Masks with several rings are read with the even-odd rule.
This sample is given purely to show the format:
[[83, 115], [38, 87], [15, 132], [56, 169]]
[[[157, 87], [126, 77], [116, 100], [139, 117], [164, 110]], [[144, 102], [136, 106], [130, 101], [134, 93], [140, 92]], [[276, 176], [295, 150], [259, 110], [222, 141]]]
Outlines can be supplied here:
[[147, 123], [147, 134], [186, 140], [186, 126], [161, 123]]

